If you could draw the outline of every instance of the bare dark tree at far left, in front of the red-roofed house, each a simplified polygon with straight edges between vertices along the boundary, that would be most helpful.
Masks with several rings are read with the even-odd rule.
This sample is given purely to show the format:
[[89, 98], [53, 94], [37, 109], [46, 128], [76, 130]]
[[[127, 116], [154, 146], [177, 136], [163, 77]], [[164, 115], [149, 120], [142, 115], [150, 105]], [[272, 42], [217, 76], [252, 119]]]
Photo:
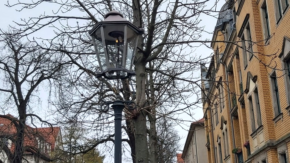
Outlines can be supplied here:
[[[8, 128], [1, 128], [1, 149], [10, 162], [19, 163], [23, 159], [24, 152], [39, 155], [39, 150], [35, 146], [24, 143], [28, 141], [25, 140], [28, 137], [39, 135], [37, 131], [28, 127], [27, 123], [33, 126], [39, 123], [51, 126], [34, 114], [32, 108], [40, 105], [39, 89], [46, 86], [51, 91], [53, 83], [59, 81], [61, 71], [65, 69], [62, 66], [66, 61], [63, 60], [64, 55], [59, 52], [50, 53], [32, 42], [24, 43], [21, 41], [21, 35], [3, 36], [5, 35], [2, 35], [4, 41], [1, 42], [3, 46], [0, 56], [2, 96], [0, 107], [2, 113], [13, 112], [18, 117], [0, 115], [5, 119], [4, 122], [8, 122]], [[8, 140], [12, 142], [14, 151], [8, 148]]]

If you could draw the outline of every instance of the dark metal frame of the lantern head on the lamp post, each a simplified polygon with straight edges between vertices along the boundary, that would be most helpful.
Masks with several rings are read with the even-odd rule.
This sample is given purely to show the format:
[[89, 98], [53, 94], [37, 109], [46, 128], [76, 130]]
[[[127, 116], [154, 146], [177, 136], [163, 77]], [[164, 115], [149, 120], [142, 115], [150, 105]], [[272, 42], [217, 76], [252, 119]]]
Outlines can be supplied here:
[[[89, 35], [92, 37], [93, 44], [95, 47], [95, 52], [97, 54], [97, 60], [99, 62], [99, 67], [101, 72], [97, 72], [98, 77], [105, 77], [107, 79], [126, 79], [128, 77], [131, 77], [132, 75], [135, 75], [135, 71], [133, 71], [133, 64], [134, 64], [134, 58], [135, 53], [137, 50], [137, 44], [139, 35], [144, 34], [144, 28], [138, 28], [133, 23], [127, 21], [124, 19], [123, 15], [115, 10], [107, 13], [105, 15], [105, 20], [100, 21], [97, 23], [92, 30], [89, 31]], [[115, 26], [115, 28], [114, 28]], [[122, 28], [118, 28], [122, 27]], [[110, 29], [113, 30], [108, 33], [104, 32], [104, 29]], [[123, 32], [123, 31], [124, 32]], [[130, 32], [131, 33], [128, 33]], [[117, 40], [112, 35], [122, 35], [124, 33], [124, 38], [117, 37]], [[110, 35], [112, 34], [112, 35]], [[101, 36], [101, 37], [100, 37]], [[131, 36], [130, 38], [127, 38], [128, 36]], [[117, 54], [113, 54], [114, 52], [109, 51], [109, 46], [115, 44], [115, 41], [112, 39], [115, 38], [116, 46], [117, 46]], [[118, 41], [118, 40], [121, 41]], [[123, 39], [123, 40], [122, 40]], [[135, 45], [129, 47], [128, 41], [133, 40]], [[99, 46], [96, 42], [99, 42]], [[120, 44], [120, 42], [122, 42]], [[101, 47], [100, 47], [101, 45]], [[120, 54], [120, 45], [123, 45], [123, 52]], [[128, 51], [129, 48], [131, 48], [131, 58], [128, 58]], [[104, 54], [102, 52], [99, 52], [99, 50], [103, 50]], [[109, 53], [117, 59], [117, 62], [113, 64], [110, 62]], [[103, 56], [105, 55], [105, 56]], [[120, 57], [121, 56], [121, 57]], [[122, 60], [120, 61], [119, 58]], [[104, 64], [104, 59], [106, 59], [106, 65]], [[127, 64], [129, 59], [130, 65]], [[102, 62], [103, 61], [103, 62]], [[126, 66], [127, 64], [127, 66]], [[128, 69], [129, 68], [129, 69]]]

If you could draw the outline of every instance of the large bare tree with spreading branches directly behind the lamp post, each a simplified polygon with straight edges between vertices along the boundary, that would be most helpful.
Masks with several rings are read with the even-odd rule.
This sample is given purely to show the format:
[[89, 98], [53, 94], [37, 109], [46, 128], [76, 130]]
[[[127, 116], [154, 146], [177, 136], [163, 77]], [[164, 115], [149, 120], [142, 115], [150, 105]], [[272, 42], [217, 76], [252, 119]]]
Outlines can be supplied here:
[[[200, 69], [200, 61], [205, 57], [194, 55], [193, 48], [211, 42], [198, 40], [203, 31], [199, 27], [200, 14], [214, 11], [213, 8], [205, 8], [207, 1], [50, 0], [13, 4], [8, 1], [7, 6], [20, 8], [20, 11], [26, 8], [43, 10], [42, 5], [52, 5], [55, 10], [53, 13], [44, 12], [43, 15], [22, 19], [22, 22], [17, 22], [22, 28], [11, 27], [15, 32], [4, 32], [3, 35], [12, 37], [15, 33], [22, 33], [32, 40], [36, 31], [54, 30], [53, 37], [34, 38], [33, 41], [52, 54], [65, 54], [66, 59], [73, 63], [66, 69], [68, 73], [60, 77], [61, 84], [57, 85], [55, 92], [58, 98], [52, 101], [58, 108], [54, 111], [59, 115], [56, 121], [82, 123], [92, 132], [90, 136], [95, 138], [94, 142], [86, 144], [86, 148], [74, 154], [86, 153], [99, 144], [106, 146], [106, 142], [113, 142], [113, 113], [104, 113], [100, 104], [104, 99], [115, 98], [116, 83], [119, 82], [123, 98], [132, 97], [137, 104], [134, 111], [124, 110], [123, 129], [126, 138], [123, 141], [131, 147], [132, 160], [134, 163], [158, 162], [156, 120], [165, 117], [182, 122], [178, 114], [192, 116], [193, 109], [198, 107], [200, 81], [192, 72]], [[145, 28], [145, 35], [138, 40], [136, 77], [114, 83], [96, 78], [95, 73], [99, 70], [97, 57], [87, 33], [107, 12], [120, 8], [126, 19]], [[40, 44], [41, 41], [45, 45]], [[199, 44], [193, 44], [196, 42]], [[106, 146], [104, 150], [108, 148]]]

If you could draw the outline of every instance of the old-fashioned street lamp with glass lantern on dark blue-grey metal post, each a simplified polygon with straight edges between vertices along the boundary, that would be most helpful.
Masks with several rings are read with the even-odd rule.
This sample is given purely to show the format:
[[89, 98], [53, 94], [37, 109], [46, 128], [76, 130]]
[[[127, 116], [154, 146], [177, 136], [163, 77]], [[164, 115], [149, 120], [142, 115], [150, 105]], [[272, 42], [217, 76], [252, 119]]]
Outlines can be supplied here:
[[[139, 35], [144, 33], [143, 28], [138, 28], [117, 11], [111, 11], [105, 15], [105, 20], [100, 21], [90, 30], [97, 60], [101, 72], [98, 77], [108, 80], [126, 79], [135, 75], [133, 71], [134, 55], [137, 49]], [[119, 85], [119, 84], [118, 84]], [[104, 102], [104, 111], [108, 111], [110, 104], [115, 115], [115, 163], [122, 162], [122, 112], [125, 104], [128, 108], [135, 109], [133, 101], [124, 101], [117, 90], [116, 100]], [[133, 106], [133, 107], [132, 107]]]

